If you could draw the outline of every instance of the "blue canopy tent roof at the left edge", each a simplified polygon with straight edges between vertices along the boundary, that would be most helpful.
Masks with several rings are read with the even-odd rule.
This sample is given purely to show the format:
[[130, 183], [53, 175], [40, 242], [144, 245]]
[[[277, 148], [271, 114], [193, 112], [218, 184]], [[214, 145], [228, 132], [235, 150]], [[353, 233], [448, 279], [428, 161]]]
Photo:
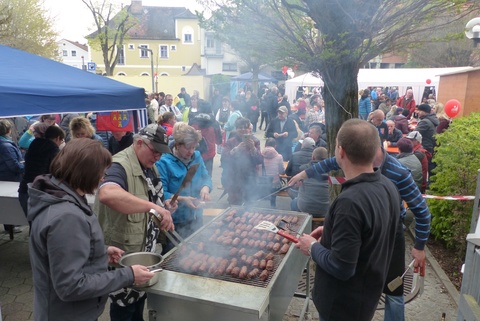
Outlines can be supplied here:
[[0, 117], [145, 109], [145, 91], [0, 45]]

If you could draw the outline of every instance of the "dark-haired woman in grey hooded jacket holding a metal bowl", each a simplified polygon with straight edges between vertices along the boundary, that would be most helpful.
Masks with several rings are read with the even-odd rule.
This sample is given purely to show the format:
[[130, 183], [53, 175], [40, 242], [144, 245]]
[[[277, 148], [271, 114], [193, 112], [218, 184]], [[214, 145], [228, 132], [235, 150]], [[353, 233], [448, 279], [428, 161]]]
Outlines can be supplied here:
[[35, 320], [96, 320], [110, 292], [154, 276], [140, 265], [107, 270], [123, 251], [105, 246], [85, 194], [94, 193], [111, 163], [100, 142], [74, 139], [53, 160], [52, 174], [38, 176], [29, 189]]

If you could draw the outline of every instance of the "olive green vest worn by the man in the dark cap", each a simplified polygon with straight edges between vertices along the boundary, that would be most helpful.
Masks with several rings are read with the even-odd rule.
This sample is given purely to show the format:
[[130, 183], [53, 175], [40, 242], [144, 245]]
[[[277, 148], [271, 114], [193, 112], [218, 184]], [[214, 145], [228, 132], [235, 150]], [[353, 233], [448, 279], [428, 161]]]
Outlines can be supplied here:
[[[134, 145], [113, 156], [113, 162], [119, 163], [127, 173], [128, 192], [138, 198], [148, 200], [148, 185]], [[158, 177], [158, 170], [152, 170]], [[148, 213], [122, 214], [100, 203], [98, 192], [95, 197], [94, 212], [98, 215], [100, 226], [105, 234], [105, 243], [121, 248], [125, 252], [145, 251]]]

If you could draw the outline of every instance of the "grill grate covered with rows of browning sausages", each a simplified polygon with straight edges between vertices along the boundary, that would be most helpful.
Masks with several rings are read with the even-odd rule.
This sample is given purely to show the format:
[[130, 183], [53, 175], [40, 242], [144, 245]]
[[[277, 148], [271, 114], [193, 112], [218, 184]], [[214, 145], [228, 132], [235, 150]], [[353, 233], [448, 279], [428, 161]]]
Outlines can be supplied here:
[[[187, 242], [182, 243], [179, 248], [174, 249], [173, 252], [163, 261], [162, 268], [189, 275], [198, 275], [206, 278], [265, 288], [270, 283], [270, 280], [275, 275], [286, 255], [281, 254], [279, 251], [269, 250], [269, 243], [279, 243], [281, 246], [289, 244], [288, 249], [290, 249], [291, 243], [288, 240], [283, 239], [280, 235], [254, 229], [254, 226], [261, 221], [270, 221], [275, 225], [278, 225], [283, 219], [284, 222], [281, 225], [282, 227], [288, 228], [289, 233], [301, 233], [302, 231], [299, 231], [299, 229], [303, 226], [306, 216], [305, 214], [294, 213], [295, 212], [268, 209], [227, 209], [214, 221], [204, 226], [200, 231], [188, 239]], [[238, 240], [236, 240], [237, 238]], [[242, 242], [246, 242], [244, 240], [247, 240], [249, 243], [243, 244]], [[236, 244], [236, 242], [240, 243]], [[232, 243], [235, 243], [235, 245]], [[217, 263], [221, 259], [228, 259], [229, 263], [227, 266], [231, 263], [233, 258], [236, 258], [239, 262], [237, 266], [245, 265], [248, 266], [249, 272], [253, 270], [254, 267], [252, 264], [247, 264], [242, 261], [243, 254], [233, 254], [233, 248], [236, 248], [238, 251], [244, 249], [244, 255], [246, 258], [253, 257], [255, 254], [258, 254], [259, 251], [263, 251], [264, 255], [260, 256], [258, 259], [259, 262], [261, 259], [265, 259], [268, 253], [271, 253], [271, 255], [273, 255], [273, 268], [269, 271], [267, 279], [265, 281], [260, 280], [260, 274], [251, 279], [240, 279], [225, 272], [220, 274], [215, 273], [213, 270], [210, 270], [210, 267], [212, 266], [211, 263], [205, 264], [206, 269], [203, 271], [199, 270], [201, 262], [207, 262], [210, 257], [215, 257]], [[213, 259], [210, 258], [210, 261], [212, 260]], [[261, 269], [259, 270], [262, 272]]]

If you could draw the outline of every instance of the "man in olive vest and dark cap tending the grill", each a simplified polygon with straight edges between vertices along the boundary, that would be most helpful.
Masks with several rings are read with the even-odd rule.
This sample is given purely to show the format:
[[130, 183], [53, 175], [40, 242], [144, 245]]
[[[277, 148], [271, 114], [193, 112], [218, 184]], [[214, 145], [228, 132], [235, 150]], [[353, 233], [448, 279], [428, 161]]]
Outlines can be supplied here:
[[[125, 252], [155, 252], [160, 228], [173, 229], [171, 212], [176, 204], [164, 200], [162, 182], [154, 166], [162, 153], [170, 152], [163, 127], [150, 124], [133, 136], [130, 147], [113, 156], [95, 199], [105, 244]], [[158, 213], [156, 223], [160, 226], [149, 216], [151, 209]], [[112, 321], [142, 320], [145, 292], [121, 289], [111, 293], [110, 298]]]

